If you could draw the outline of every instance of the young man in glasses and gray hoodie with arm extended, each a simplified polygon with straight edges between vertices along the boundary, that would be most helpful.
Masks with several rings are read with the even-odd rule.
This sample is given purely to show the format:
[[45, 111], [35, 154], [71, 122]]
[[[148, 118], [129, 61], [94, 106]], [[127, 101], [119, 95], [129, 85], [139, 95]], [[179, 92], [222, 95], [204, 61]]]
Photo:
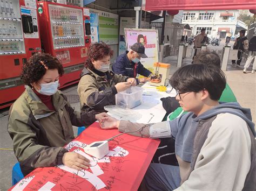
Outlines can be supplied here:
[[179, 166], [151, 164], [142, 190], [253, 190], [254, 123], [250, 109], [218, 102], [225, 74], [213, 65], [187, 65], [170, 80], [187, 114], [173, 121], [139, 124], [105, 117], [103, 129], [140, 137], [175, 139]]

